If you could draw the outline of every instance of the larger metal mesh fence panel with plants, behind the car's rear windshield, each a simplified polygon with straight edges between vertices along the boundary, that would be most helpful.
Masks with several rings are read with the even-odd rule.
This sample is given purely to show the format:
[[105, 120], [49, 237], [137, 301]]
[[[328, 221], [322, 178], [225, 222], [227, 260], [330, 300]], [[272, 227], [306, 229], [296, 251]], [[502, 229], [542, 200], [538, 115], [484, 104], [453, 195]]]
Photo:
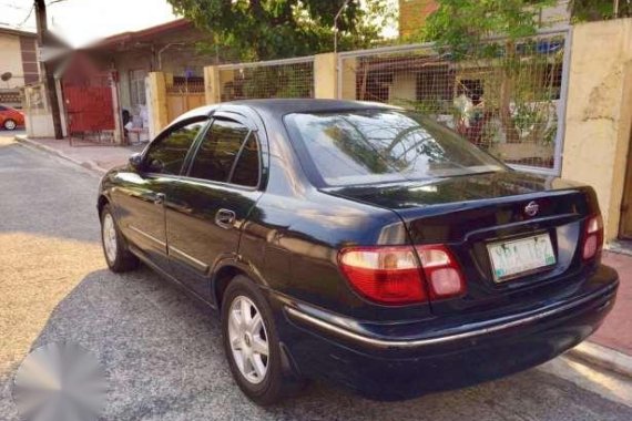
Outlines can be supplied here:
[[431, 43], [345, 52], [338, 96], [430, 114], [518, 168], [559, 174], [570, 42], [563, 29], [459, 58]]

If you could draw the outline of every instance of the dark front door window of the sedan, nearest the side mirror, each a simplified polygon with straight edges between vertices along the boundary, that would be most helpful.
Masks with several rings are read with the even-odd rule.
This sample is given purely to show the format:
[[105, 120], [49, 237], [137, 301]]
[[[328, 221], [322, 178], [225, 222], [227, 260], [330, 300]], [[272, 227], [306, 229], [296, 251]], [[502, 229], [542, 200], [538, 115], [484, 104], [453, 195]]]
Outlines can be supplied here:
[[206, 120], [180, 126], [150, 146], [145, 156], [145, 168], [150, 173], [180, 174], [188, 148]]

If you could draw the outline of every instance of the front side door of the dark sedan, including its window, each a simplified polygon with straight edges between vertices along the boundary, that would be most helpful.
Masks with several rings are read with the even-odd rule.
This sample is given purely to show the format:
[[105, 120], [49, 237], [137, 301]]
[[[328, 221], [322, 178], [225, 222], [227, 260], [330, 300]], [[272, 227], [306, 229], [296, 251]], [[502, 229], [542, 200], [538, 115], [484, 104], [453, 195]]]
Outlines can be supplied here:
[[121, 173], [122, 187], [113, 192], [123, 234], [163, 269], [169, 269], [164, 204], [206, 123], [200, 119], [187, 121], [162, 133], [144, 154], [140, 171]]

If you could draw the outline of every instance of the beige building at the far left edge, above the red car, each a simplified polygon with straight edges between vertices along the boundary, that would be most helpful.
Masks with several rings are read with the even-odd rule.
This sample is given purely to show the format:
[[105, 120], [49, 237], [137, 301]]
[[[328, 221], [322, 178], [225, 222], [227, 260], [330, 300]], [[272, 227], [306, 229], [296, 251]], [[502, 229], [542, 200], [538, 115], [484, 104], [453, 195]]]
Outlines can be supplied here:
[[35, 34], [0, 28], [0, 103], [20, 106], [20, 88], [40, 79]]

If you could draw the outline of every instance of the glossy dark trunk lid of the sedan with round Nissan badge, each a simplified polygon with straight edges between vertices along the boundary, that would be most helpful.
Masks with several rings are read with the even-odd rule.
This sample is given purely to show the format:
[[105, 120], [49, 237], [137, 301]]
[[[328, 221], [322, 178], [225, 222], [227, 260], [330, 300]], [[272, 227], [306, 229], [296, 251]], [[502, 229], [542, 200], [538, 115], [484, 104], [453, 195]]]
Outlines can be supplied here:
[[[415, 245], [449, 247], [462, 268], [467, 294], [432, 302], [435, 314], [502, 314], [561, 294], [583, 266], [578, 244], [584, 220], [599, 213], [592, 188], [517, 172], [326, 192], [395, 210]], [[554, 263], [499, 280], [490, 245], [534, 236], [550, 239]]]

